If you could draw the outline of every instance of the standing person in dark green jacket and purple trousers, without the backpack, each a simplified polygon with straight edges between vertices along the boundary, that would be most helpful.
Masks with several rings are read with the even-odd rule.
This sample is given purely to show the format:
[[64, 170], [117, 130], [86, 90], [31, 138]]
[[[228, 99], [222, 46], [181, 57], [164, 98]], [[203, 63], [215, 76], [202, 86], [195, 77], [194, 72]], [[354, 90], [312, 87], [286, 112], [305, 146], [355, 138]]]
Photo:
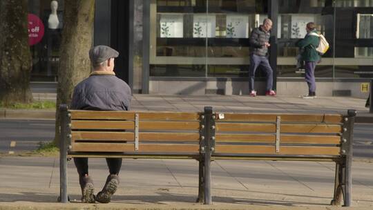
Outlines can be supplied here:
[[320, 55], [318, 55], [318, 52], [316, 51], [319, 38], [315, 23], [307, 23], [305, 29], [307, 30], [307, 35], [305, 35], [304, 39], [301, 39], [296, 43], [296, 46], [300, 48], [300, 57], [303, 61], [305, 61], [305, 81], [308, 85], [308, 95], [304, 95], [303, 98], [315, 98], [315, 68], [316, 63], [320, 61]]

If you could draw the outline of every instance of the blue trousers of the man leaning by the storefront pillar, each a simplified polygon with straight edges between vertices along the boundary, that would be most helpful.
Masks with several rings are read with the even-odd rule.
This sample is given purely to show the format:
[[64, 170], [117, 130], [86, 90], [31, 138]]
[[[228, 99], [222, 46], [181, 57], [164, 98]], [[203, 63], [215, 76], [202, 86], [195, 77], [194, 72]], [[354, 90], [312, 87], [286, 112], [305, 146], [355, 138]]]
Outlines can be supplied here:
[[258, 66], [261, 66], [267, 75], [267, 91], [272, 90], [274, 84], [274, 71], [272, 70], [271, 65], [269, 65], [267, 57], [252, 54], [250, 55], [249, 91], [254, 90], [254, 78]]

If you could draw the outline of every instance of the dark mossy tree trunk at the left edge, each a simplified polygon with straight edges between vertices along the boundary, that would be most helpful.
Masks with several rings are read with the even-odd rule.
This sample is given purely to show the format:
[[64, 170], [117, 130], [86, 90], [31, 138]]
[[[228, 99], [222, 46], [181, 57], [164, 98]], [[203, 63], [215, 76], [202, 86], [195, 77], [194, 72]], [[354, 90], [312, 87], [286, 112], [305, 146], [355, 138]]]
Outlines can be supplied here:
[[0, 102], [32, 102], [28, 1], [0, 1]]

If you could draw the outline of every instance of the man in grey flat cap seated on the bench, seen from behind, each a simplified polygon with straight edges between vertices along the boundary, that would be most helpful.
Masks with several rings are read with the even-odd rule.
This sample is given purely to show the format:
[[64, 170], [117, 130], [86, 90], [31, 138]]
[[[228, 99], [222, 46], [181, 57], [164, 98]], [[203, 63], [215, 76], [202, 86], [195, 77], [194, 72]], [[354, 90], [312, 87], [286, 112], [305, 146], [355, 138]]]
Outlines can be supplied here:
[[[114, 59], [119, 53], [108, 46], [95, 46], [89, 50], [93, 72], [74, 89], [71, 109], [128, 111], [131, 104], [131, 88], [122, 79], [115, 77]], [[88, 158], [74, 158], [82, 202], [111, 201], [119, 184], [122, 158], [106, 158], [109, 175], [102, 191], [94, 195], [93, 180], [88, 173]]]

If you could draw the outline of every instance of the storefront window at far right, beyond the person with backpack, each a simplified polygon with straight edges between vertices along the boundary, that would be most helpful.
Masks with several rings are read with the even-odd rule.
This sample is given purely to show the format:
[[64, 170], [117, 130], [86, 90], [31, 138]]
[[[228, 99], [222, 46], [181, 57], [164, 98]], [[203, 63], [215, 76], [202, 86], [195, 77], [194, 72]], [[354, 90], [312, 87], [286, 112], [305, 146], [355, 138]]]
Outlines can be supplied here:
[[373, 74], [373, 1], [336, 1], [334, 77]]

